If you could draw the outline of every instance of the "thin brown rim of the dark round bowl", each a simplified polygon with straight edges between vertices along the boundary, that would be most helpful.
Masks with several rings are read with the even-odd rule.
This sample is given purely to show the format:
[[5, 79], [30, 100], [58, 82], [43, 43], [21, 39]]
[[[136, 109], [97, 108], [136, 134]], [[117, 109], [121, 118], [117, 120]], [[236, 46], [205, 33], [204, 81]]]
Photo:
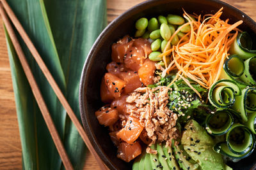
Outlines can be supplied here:
[[[111, 32], [111, 29], [113, 29], [113, 27], [115, 28], [115, 25], [118, 22], [120, 22], [120, 20], [122, 20], [122, 18], [129, 17], [129, 13], [131, 13], [132, 11], [136, 11], [139, 8], [143, 8], [144, 6], [150, 6], [150, 4], [154, 4], [159, 1], [164, 2], [165, 0], [148, 0], [148, 1], [144, 1], [142, 3], [136, 4], [135, 6], [132, 6], [131, 8], [126, 10], [124, 13], [122, 13], [121, 15], [116, 17], [113, 21], [111, 21], [106, 26], [106, 28], [99, 34], [99, 36], [93, 43], [93, 46], [90, 49], [90, 52], [88, 53], [86, 60], [84, 62], [83, 71], [81, 73], [81, 78], [80, 78], [80, 83], [79, 83], [79, 110], [80, 110], [81, 120], [83, 123], [84, 131], [86, 132], [88, 139], [90, 139], [90, 143], [92, 144], [93, 148], [99, 155], [100, 159], [102, 159], [104, 164], [106, 164], [106, 166], [108, 166], [109, 169], [117, 169], [118, 167], [113, 165], [113, 163], [108, 158], [106, 153], [104, 153], [102, 147], [99, 145], [99, 143], [97, 143], [97, 139], [96, 139], [95, 135], [93, 134], [92, 130], [90, 129], [90, 122], [86, 118], [86, 115], [88, 115], [88, 113], [86, 111], [87, 106], [86, 106], [86, 104], [84, 104], [84, 101], [86, 101], [86, 97], [84, 96], [84, 92], [86, 90], [84, 87], [86, 87], [85, 80], [86, 80], [86, 77], [88, 76], [86, 73], [92, 67], [92, 66], [90, 66], [90, 61], [92, 60], [92, 56], [95, 53], [95, 49], [97, 48], [97, 46], [100, 45], [99, 42], [102, 39], [104, 39], [106, 34], [109, 34], [109, 32]], [[187, 0], [183, 0], [183, 1], [187, 1]], [[256, 26], [256, 22], [252, 18], [250, 18], [248, 15], [246, 15], [243, 11], [239, 10], [238, 8], [232, 6], [228, 3], [225, 3], [225, 2], [219, 1], [219, 0], [205, 0], [205, 1], [210, 1], [211, 3], [220, 4], [224, 8], [230, 8], [231, 10], [234, 10], [236, 13], [238, 13], [239, 15], [242, 15], [243, 18], [246, 18], [246, 20], [248, 20], [248, 27], [252, 28], [253, 25]], [[256, 169], [256, 164], [252, 167], [252, 169]]]

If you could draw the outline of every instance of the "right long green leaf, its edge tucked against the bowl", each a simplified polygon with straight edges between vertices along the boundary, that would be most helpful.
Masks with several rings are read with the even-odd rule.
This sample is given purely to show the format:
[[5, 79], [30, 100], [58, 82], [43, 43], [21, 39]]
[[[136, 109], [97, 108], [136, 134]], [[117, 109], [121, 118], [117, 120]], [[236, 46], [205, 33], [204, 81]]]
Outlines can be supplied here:
[[[106, 26], [106, 0], [44, 0], [52, 34], [67, 82], [67, 100], [79, 115], [79, 81], [86, 56]], [[68, 13], [68, 15], [67, 15]], [[65, 28], [65, 29], [63, 29]], [[65, 147], [75, 167], [81, 169], [84, 145], [76, 128], [67, 118]]]

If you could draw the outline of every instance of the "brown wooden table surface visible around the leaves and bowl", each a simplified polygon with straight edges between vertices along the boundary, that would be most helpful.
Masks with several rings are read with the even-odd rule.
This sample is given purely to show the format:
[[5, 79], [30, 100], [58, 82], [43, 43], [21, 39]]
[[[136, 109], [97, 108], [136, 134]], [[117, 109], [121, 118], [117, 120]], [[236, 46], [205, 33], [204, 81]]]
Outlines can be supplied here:
[[[143, 0], [108, 0], [108, 22]], [[256, 0], [224, 0], [256, 20]], [[0, 18], [1, 20], [1, 18]], [[2, 20], [0, 21], [2, 22]], [[22, 169], [19, 127], [3, 24], [0, 24], [0, 169]], [[88, 153], [84, 169], [97, 170]]]

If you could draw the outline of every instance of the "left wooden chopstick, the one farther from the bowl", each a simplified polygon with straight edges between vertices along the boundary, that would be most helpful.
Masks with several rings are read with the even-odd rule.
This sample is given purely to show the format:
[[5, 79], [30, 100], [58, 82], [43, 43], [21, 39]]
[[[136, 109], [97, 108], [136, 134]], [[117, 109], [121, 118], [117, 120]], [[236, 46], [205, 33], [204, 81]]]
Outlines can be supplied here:
[[17, 52], [17, 55], [19, 57], [21, 65], [24, 69], [26, 77], [28, 78], [29, 85], [31, 86], [32, 92], [36, 99], [36, 102], [37, 102], [37, 104], [40, 108], [40, 111], [44, 117], [45, 123], [50, 131], [50, 134], [52, 136], [54, 144], [56, 145], [58, 153], [60, 154], [61, 160], [66, 169], [74, 169], [70, 160], [68, 159], [67, 152], [65, 151], [65, 148], [61, 142], [58, 131], [57, 131], [56, 127], [54, 126], [51, 115], [49, 114], [47, 106], [44, 102], [44, 98], [42, 97], [42, 94], [38, 88], [38, 85], [36, 84], [35, 78], [31, 72], [29, 65], [28, 65], [28, 61], [26, 60], [26, 57], [22, 51], [22, 48], [19, 45], [19, 41], [15, 35], [15, 32], [12, 29], [12, 25], [10, 24], [10, 21], [8, 20], [8, 17], [6, 15], [6, 13], [4, 12], [3, 5], [1, 3], [0, 3], [0, 13], [1, 13], [1, 16], [3, 17], [4, 25], [10, 35], [10, 38], [12, 39], [13, 46]]

